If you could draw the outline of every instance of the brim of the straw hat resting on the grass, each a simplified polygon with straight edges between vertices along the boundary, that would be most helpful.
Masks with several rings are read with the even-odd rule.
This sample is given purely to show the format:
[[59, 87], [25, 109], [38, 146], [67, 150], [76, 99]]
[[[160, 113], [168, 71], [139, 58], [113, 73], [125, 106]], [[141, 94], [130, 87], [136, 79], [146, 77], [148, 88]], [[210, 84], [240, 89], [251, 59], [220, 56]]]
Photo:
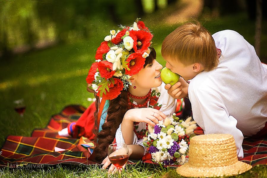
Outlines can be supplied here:
[[242, 174], [251, 168], [251, 165], [241, 161], [237, 161], [229, 166], [218, 167], [194, 167], [189, 163], [185, 163], [184, 165], [178, 167], [176, 171], [184, 177], [222, 177]]

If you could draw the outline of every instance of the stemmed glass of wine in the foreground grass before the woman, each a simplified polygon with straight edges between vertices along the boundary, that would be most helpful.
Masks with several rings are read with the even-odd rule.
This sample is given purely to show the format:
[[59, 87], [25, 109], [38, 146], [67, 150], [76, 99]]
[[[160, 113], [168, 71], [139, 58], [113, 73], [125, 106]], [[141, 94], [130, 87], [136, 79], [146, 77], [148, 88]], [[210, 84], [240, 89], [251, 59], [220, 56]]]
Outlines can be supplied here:
[[125, 143], [110, 144], [108, 149], [109, 160], [116, 166], [119, 178], [121, 178], [122, 167], [127, 163], [129, 158], [129, 150]]

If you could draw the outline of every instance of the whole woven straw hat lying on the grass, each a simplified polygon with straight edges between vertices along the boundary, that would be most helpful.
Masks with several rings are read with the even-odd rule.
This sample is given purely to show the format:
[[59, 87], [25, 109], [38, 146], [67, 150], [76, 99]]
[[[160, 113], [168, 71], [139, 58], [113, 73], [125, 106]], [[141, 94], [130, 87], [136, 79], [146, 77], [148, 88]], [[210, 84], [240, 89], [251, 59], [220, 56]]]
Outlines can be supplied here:
[[241, 174], [252, 168], [237, 159], [230, 134], [207, 134], [190, 139], [189, 160], [176, 169], [184, 177], [214, 177]]

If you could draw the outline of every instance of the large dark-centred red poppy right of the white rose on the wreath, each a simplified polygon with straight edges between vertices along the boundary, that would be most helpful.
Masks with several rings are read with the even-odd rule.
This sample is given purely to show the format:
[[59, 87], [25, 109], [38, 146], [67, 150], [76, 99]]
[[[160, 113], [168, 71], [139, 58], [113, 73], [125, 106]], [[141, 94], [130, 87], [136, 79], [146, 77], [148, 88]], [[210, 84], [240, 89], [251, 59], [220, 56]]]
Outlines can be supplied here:
[[[150, 46], [150, 41], [153, 38], [150, 32], [143, 30], [131, 30], [129, 36], [134, 40], [134, 51], [139, 54], [143, 54], [147, 51], [147, 48]], [[139, 45], [140, 42], [141, 45]]]

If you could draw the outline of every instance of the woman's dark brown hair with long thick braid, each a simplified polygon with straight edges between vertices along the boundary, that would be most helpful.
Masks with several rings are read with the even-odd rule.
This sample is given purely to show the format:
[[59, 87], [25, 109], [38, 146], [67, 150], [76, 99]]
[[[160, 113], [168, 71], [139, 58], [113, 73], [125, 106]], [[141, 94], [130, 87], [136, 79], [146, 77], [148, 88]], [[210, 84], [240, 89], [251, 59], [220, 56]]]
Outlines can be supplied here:
[[[149, 56], [145, 60], [144, 68], [153, 62], [156, 58], [156, 51], [154, 48], [151, 48]], [[96, 95], [95, 95], [96, 96]], [[94, 116], [96, 118], [95, 125], [97, 125], [97, 115], [98, 115], [98, 96], [96, 96], [96, 112]], [[98, 140], [96, 147], [94, 149], [95, 160], [101, 162], [104, 158], [107, 157], [107, 151], [109, 144], [112, 144], [117, 129], [119, 128], [120, 123], [122, 123], [125, 113], [129, 109], [128, 104], [128, 94], [127, 90], [122, 90], [121, 94], [109, 101], [109, 108], [107, 110], [107, 122], [102, 125], [102, 131], [98, 133], [98, 130], [95, 130], [96, 140]], [[97, 128], [98, 129], [98, 128]]]

